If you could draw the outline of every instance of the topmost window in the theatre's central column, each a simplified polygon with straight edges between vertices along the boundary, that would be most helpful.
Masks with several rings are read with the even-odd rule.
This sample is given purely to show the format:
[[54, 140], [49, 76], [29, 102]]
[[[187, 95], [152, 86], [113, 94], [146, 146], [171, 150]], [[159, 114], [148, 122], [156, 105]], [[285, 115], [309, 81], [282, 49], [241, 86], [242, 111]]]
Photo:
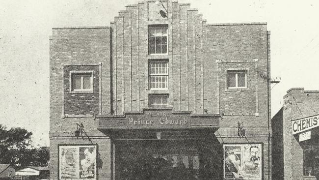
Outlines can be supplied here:
[[149, 54], [166, 54], [167, 53], [167, 26], [150, 26], [149, 27]]

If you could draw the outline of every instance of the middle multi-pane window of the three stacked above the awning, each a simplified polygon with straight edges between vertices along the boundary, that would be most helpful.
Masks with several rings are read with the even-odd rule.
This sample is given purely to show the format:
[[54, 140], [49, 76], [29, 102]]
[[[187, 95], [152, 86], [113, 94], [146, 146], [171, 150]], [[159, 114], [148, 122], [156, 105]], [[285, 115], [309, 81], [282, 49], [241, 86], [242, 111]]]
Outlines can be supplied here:
[[149, 88], [168, 88], [168, 61], [154, 60], [149, 63]]

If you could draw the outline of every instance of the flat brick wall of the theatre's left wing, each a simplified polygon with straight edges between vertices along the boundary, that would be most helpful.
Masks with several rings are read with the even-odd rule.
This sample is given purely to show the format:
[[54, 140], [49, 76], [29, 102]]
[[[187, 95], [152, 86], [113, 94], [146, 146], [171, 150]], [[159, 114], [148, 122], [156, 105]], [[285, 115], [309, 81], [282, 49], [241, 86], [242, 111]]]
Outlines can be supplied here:
[[[99, 153], [104, 158], [104, 164], [99, 169], [99, 177], [104, 179], [111, 177], [109, 170], [111, 143], [106, 135], [97, 130], [98, 122], [93, 117], [93, 114], [101, 111], [99, 104], [103, 109], [102, 113], [110, 113], [110, 40], [110, 29], [107, 27], [53, 29], [53, 35], [50, 38], [50, 172], [52, 180], [57, 180], [58, 144], [90, 144], [86, 138], [85, 141], [75, 138], [76, 123], [83, 123], [87, 134], [94, 143], [99, 145]], [[85, 95], [70, 93], [68, 86], [70, 70], [93, 70], [96, 77], [95, 91]], [[104, 86], [100, 87], [100, 83]], [[90, 99], [90, 102], [86, 101], [87, 99]]]

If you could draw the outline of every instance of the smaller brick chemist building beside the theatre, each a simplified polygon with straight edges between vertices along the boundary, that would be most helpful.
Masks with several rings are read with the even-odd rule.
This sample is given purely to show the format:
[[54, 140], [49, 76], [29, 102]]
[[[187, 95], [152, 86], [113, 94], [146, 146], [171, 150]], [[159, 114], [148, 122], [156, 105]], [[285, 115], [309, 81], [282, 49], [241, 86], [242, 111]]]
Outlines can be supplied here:
[[319, 180], [319, 91], [292, 88], [283, 100], [272, 118], [274, 176]]

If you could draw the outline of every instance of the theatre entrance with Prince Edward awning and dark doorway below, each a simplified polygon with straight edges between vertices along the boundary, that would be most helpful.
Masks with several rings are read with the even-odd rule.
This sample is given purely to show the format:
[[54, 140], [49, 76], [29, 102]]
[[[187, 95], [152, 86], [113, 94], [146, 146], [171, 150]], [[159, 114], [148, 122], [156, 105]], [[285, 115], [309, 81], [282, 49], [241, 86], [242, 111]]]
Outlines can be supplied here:
[[112, 140], [115, 180], [220, 180], [223, 150], [214, 132], [220, 115], [146, 108], [97, 116]]

